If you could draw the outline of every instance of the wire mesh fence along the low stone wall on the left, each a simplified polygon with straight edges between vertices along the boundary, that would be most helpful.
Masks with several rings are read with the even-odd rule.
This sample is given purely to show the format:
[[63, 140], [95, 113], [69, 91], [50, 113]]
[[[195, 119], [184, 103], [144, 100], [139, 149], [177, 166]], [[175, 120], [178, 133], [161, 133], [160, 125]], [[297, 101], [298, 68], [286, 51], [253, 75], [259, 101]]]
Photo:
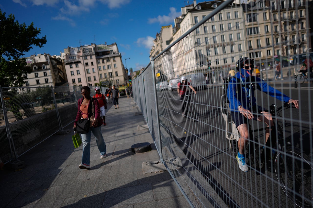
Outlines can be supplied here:
[[3, 162], [36, 146], [74, 121], [81, 87], [0, 87]]

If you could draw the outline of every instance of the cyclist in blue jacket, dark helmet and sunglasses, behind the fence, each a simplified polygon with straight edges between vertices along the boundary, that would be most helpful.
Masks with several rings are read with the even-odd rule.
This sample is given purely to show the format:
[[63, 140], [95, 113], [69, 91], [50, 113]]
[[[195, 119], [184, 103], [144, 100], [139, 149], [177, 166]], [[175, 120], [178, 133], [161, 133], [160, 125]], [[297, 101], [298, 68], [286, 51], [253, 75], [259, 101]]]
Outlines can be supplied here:
[[[276, 135], [272, 116], [263, 106], [258, 106], [256, 104], [254, 90], [258, 89], [280, 101], [294, 103], [296, 108], [299, 108], [299, 101], [293, 100], [284, 95], [280, 91], [269, 86], [266, 82], [262, 81], [259, 77], [252, 76], [254, 59], [248, 57], [240, 58], [236, 64], [236, 69], [238, 71], [237, 74], [229, 81], [227, 97], [233, 121], [240, 134], [237, 161], [240, 170], [246, 172], [249, 169], [245, 163], [244, 148], [250, 138], [248, 121], [254, 119], [265, 122], [268, 127], [270, 126], [270, 128], [265, 131], [266, 141], [269, 138], [270, 133], [271, 135]], [[274, 132], [272, 133], [271, 131]], [[272, 136], [272, 141], [273, 140]]]

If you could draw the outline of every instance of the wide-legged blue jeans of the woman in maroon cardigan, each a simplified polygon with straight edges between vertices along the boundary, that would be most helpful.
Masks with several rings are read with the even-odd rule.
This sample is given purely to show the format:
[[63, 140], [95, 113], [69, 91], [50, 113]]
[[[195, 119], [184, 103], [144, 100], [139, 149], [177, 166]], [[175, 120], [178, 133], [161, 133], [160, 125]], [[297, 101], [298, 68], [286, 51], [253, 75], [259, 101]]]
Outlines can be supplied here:
[[106, 145], [101, 133], [101, 126], [99, 127], [90, 127], [88, 133], [81, 134], [81, 140], [83, 141], [83, 156], [81, 157], [81, 163], [90, 165], [90, 139], [91, 131], [95, 136], [100, 155], [106, 154]]

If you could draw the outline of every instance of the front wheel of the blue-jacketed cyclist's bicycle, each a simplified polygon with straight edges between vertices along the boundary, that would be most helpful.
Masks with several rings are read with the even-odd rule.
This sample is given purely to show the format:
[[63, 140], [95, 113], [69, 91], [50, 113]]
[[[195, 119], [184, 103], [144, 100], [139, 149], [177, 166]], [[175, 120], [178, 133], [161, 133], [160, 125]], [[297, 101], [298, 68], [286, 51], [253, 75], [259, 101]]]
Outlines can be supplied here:
[[288, 196], [299, 207], [312, 207], [313, 168], [300, 149], [288, 146], [284, 153], [275, 157], [275, 174], [278, 182]]

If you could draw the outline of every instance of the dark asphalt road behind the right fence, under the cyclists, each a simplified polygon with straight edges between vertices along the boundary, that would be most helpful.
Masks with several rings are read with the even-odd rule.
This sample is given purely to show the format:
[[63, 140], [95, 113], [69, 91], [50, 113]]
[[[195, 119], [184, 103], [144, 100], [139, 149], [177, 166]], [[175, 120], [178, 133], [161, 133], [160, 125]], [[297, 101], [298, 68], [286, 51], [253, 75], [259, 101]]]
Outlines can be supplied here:
[[[313, 86], [307, 83], [298, 86], [300, 88], [297, 89], [293, 83], [276, 83], [271, 86], [275, 86], [293, 99], [300, 100], [299, 109], [287, 109], [282, 112], [286, 120], [284, 134], [295, 146], [312, 157], [310, 138], [312, 138]], [[197, 170], [192, 171], [189, 178], [201, 176], [204, 179], [197, 187], [205, 191], [201, 191], [198, 196], [196, 191], [196, 197], [202, 203], [208, 200], [203, 204], [211, 206], [213, 197], [213, 201], [223, 201], [228, 207], [294, 207], [277, 183], [275, 171], [270, 168], [270, 164], [267, 165], [267, 171], [261, 175], [254, 170], [246, 173], [239, 170], [225, 137], [225, 122], [220, 109], [222, 90], [220, 85], [216, 85], [198, 90], [196, 95], [192, 95], [192, 107], [196, 111], [192, 118], [189, 117], [190, 113], [182, 117], [181, 102], [176, 90], [157, 93], [161, 132], [166, 132], [164, 135], [169, 135], [167, 141], [178, 146], [178, 149], [173, 150], [176, 151], [174, 153], [185, 155], [188, 159], [186, 164], [192, 163]], [[273, 103], [277, 106], [282, 105], [279, 100], [262, 92], [256, 92], [256, 98], [257, 103], [267, 109]], [[257, 130], [262, 128], [262, 123], [256, 121], [252, 123], [254, 136], [259, 137], [260, 142], [263, 141], [264, 132]]]

